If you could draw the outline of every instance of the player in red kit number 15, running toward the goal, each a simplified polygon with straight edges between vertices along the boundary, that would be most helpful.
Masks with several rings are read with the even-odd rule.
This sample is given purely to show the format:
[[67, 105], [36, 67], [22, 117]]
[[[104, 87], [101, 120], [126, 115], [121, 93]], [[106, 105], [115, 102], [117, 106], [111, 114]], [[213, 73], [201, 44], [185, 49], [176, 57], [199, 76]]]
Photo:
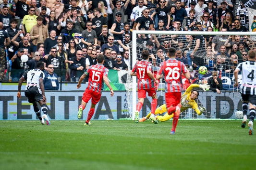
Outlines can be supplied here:
[[[77, 51], [77, 55], [83, 55], [82, 51]], [[109, 80], [108, 80], [108, 73], [109, 69], [103, 66], [104, 63], [104, 55], [99, 54], [97, 57], [97, 64], [96, 65], [91, 65], [85, 73], [80, 77], [76, 87], [80, 88], [81, 83], [84, 80], [86, 76], [89, 76], [88, 80], [88, 86], [85, 89], [85, 92], [82, 97], [82, 102], [81, 105], [79, 106], [79, 111], [77, 114], [78, 119], [82, 117], [82, 112], [85, 109], [85, 106], [87, 105], [88, 101], [92, 99], [92, 104], [90, 111], [88, 113], [88, 117], [85, 121], [85, 126], [90, 125], [91, 123], [89, 122], [94, 114], [95, 110], [95, 105], [98, 103], [100, 100], [101, 92], [103, 90], [103, 85], [104, 82], [105, 84], [110, 88], [110, 96], [114, 95], [114, 91], [112, 90]], [[104, 82], [103, 82], [103, 81]]]

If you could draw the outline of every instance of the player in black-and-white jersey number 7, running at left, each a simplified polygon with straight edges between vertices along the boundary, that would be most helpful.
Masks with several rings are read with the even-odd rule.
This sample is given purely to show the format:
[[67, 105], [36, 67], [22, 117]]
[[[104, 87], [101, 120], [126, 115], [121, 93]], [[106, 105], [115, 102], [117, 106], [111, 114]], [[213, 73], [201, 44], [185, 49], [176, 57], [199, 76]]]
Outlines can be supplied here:
[[[45, 74], [43, 70], [44, 70], [44, 63], [37, 62], [37, 68], [29, 70], [20, 78], [17, 97], [21, 98], [22, 82], [26, 80], [27, 85], [25, 90], [25, 96], [28, 98], [28, 102], [33, 104], [34, 111], [37, 114], [37, 117], [39, 118], [41, 123], [43, 125], [45, 123], [47, 125], [50, 125], [50, 121], [47, 116], [48, 108], [46, 105], [46, 97], [45, 97], [45, 91], [44, 91]], [[44, 113], [42, 117], [41, 117], [40, 109], [37, 107], [37, 102], [42, 107], [42, 111]]]

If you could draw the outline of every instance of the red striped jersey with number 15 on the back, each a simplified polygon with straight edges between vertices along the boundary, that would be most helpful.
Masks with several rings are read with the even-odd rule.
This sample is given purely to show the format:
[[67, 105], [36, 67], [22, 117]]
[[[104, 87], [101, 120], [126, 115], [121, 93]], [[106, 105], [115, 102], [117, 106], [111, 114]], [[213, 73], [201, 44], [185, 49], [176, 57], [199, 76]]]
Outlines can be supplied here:
[[89, 75], [87, 89], [101, 93], [104, 87], [103, 76], [108, 76], [109, 69], [102, 64], [91, 65], [85, 74]]

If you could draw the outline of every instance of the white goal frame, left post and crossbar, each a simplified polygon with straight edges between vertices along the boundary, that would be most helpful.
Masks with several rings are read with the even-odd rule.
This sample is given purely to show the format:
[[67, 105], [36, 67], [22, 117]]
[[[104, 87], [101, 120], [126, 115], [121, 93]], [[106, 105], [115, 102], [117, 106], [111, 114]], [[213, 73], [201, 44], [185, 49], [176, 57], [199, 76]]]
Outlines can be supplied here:
[[[198, 32], [198, 31], [143, 31], [143, 30], [140, 30], [140, 31], [137, 31], [137, 30], [134, 30], [133, 31], [133, 41], [132, 41], [132, 48], [130, 49], [131, 53], [131, 57], [130, 59], [132, 59], [132, 66], [134, 66], [134, 64], [136, 63], [136, 61], [139, 59], [140, 60], [140, 52], [137, 50], [138, 48], [140, 48], [139, 46], [143, 46], [143, 44], [139, 44], [136, 40], [137, 38], [137, 35], [138, 34], [145, 34], [146, 36], [150, 35], [156, 35], [158, 37], [160, 37], [161, 35], [166, 35], [166, 36], [169, 36], [169, 39], [168, 41], [172, 41], [170, 36], [171, 35], [178, 35], [178, 37], [184, 37], [186, 35], [203, 35], [203, 36], [216, 36], [216, 35], [227, 35], [227, 36], [230, 36], [230, 35], [240, 35], [241, 37], [243, 36], [248, 36], [250, 37], [250, 39], [252, 41], [256, 40], [256, 32]], [[164, 38], [163, 38], [164, 39]], [[176, 37], [177, 39], [177, 37]], [[179, 39], [179, 40], [182, 40], [183, 39]], [[242, 38], [241, 38], [242, 40]], [[163, 41], [163, 40], [162, 40]], [[193, 44], [195, 45], [195, 44]], [[156, 46], [156, 44], [155, 44]], [[177, 46], [177, 44], [176, 44]], [[253, 44], [254, 46], [254, 44]], [[141, 49], [147, 49], [145, 44], [144, 44], [144, 47], [142, 47]], [[156, 50], [155, 50], [156, 51]], [[157, 52], [154, 53], [154, 55], [157, 55]], [[136, 57], [134, 57], [136, 56]], [[216, 59], [216, 54], [214, 54], [214, 60]], [[136, 104], [137, 104], [137, 81], [136, 81], [136, 76], [130, 76], [130, 71], [132, 70], [132, 68], [130, 68], [128, 70], [128, 75], [127, 75], [127, 83], [126, 83], [126, 98], [127, 98], [127, 105], [128, 107], [126, 108], [127, 109], [127, 112], [129, 114], [129, 116], [127, 116], [127, 118], [132, 118], [134, 119], [134, 113], [135, 113], [135, 109], [136, 109]], [[196, 71], [194, 71], [196, 72]], [[156, 73], [156, 72], [155, 72]], [[164, 83], [162, 83], [163, 85]], [[161, 83], [160, 83], [161, 85]], [[159, 88], [159, 87], [158, 87]], [[162, 88], [160, 88], [160, 90], [158, 90], [158, 93], [161, 93], [162, 96], [164, 96], [164, 85], [162, 86]], [[236, 92], [238, 93], [237, 89], [233, 89], [233, 92]], [[200, 106], [200, 105], [198, 105]], [[192, 110], [192, 109], [191, 109]], [[191, 112], [191, 111], [190, 111]], [[192, 118], [192, 117], [188, 117], [188, 118]], [[200, 117], [199, 117], [200, 118]], [[209, 117], [207, 117], [209, 118]], [[215, 117], [211, 117], [211, 118], [215, 118]]]

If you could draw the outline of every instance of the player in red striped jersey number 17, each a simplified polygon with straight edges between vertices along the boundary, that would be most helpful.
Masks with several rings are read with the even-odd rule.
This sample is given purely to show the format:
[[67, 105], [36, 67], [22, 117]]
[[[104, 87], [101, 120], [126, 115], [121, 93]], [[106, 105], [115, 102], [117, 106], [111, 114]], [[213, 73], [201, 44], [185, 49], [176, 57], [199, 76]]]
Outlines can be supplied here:
[[148, 96], [152, 97], [151, 102], [151, 116], [149, 117], [155, 124], [157, 124], [157, 120], [155, 118], [155, 110], [157, 108], [158, 99], [157, 92], [154, 87], [154, 82], [158, 84], [158, 80], [154, 77], [152, 73], [152, 64], [148, 62], [149, 52], [147, 50], [143, 50], [142, 60], [138, 61], [133, 70], [131, 71], [131, 75], [137, 76], [138, 78], [138, 103], [136, 105], [135, 111], [135, 123], [139, 122], [139, 112], [144, 103], [144, 98], [146, 97], [146, 92]]

